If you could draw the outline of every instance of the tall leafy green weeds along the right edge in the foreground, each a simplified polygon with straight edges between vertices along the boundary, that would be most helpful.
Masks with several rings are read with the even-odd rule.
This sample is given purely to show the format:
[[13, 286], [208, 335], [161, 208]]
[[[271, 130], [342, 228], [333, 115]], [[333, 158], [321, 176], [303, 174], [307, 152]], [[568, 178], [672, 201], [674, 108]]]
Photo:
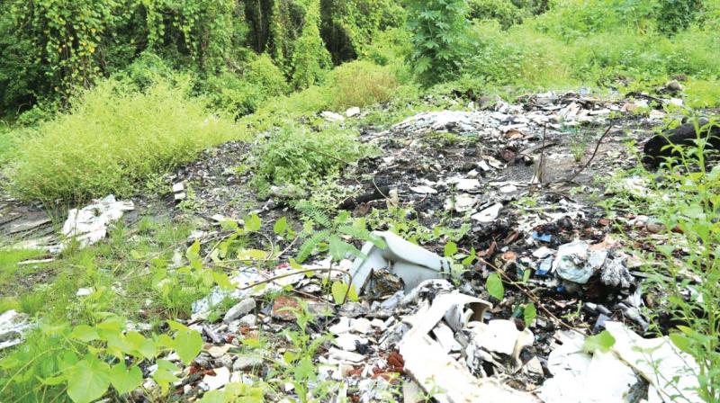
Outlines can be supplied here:
[[[667, 240], [650, 240], [653, 249], [644, 253], [649, 280], [644, 292], [653, 295], [646, 313], [658, 334], [671, 327], [672, 343], [696, 360], [698, 396], [709, 402], [720, 399], [720, 166], [707, 164], [705, 134], [718, 122], [701, 127], [696, 119], [694, 124], [699, 133], [695, 147], [674, 146], [679, 157], [663, 163], [662, 179], [644, 169], [624, 173], [608, 181], [618, 194], [605, 203], [615, 210], [642, 211], [661, 226]], [[628, 194], [625, 184], [631, 177], [640, 178], [650, 192]], [[673, 381], [671, 374], [658, 376]], [[679, 399], [686, 399], [687, 392], [679, 390]]]

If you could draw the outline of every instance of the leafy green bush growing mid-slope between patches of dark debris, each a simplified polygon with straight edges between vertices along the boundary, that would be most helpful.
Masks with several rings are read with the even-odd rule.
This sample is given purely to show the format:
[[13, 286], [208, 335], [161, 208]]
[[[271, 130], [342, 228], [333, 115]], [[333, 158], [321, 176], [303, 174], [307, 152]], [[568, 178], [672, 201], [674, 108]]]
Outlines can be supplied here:
[[262, 191], [271, 184], [305, 185], [312, 179], [337, 173], [346, 163], [370, 154], [354, 130], [329, 128], [310, 132], [285, 126], [261, 147], [255, 184]]

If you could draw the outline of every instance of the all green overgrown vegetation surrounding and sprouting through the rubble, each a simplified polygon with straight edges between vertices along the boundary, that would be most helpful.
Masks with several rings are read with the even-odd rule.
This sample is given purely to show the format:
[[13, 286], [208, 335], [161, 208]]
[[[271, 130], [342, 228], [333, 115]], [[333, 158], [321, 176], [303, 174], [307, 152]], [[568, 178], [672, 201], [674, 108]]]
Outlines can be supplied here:
[[[0, 4], [0, 181], [23, 201], [131, 197], [164, 185], [163, 175], [204, 148], [256, 140], [252, 184], [261, 196], [289, 199], [305, 220], [298, 233], [283, 219], [274, 226], [283, 242], [302, 238], [299, 261], [319, 252], [333, 262], [357, 255], [349, 241], [379, 245], [367, 230], [379, 228], [418, 243], [446, 241], [446, 257], [462, 272], [475, 251], [455, 242], [469, 223], [450, 228], [440, 217], [426, 228], [419, 211], [393, 205], [364, 219], [333, 217], [347, 194], [327, 181], [374, 154], [358, 141], [364, 126], [447, 107], [455, 100], [437, 95], [453, 90], [655, 94], [678, 80], [683, 89], [672, 96], [691, 108], [717, 107], [718, 31], [715, 0], [10, 0]], [[329, 123], [319, 115], [351, 107], [363, 108], [362, 117]], [[586, 139], [575, 141], [581, 161]], [[652, 188], [649, 197], [605, 203], [642, 208], [664, 225], [672, 242], [653, 243], [645, 256], [650, 288], [663, 298], [653, 326], [661, 333], [672, 324], [672, 341], [698, 360], [703, 399], [716, 401], [720, 169], [706, 166], [703, 148], [686, 150], [660, 175], [633, 172]], [[324, 192], [314, 192], [319, 185]], [[179, 209], [189, 215], [198, 207], [188, 184]], [[71, 247], [47, 264], [18, 266], [44, 254], [3, 246], [0, 286], [8, 290], [0, 312], [18, 309], [40, 322], [0, 357], [0, 400], [124, 399], [151, 363], [165, 395], [175, 364], [164, 354], [188, 363], [200, 349], [199, 334], [176, 320], [189, 318], [192, 302], [213, 287], [229, 286], [225, 269], [275, 263], [275, 245], [253, 237], [257, 216], [223, 225], [229, 236], [210, 251], [186, 244], [193, 224], [166, 219], [120, 225], [106, 242]], [[8, 287], [36, 273], [49, 277], [43, 287]], [[529, 273], [506, 284], [527, 282]], [[485, 279], [493, 298], [502, 300], [506, 280]], [[337, 303], [353, 296], [342, 282], [325, 286]], [[80, 287], [90, 294], [78, 298]], [[534, 303], [519, 309], [527, 323], [535, 319]], [[263, 382], [233, 384], [202, 401], [261, 401], [266, 388], [284, 388], [279, 378], [302, 399], [337, 388], [307, 389], [317, 381], [312, 355], [327, 337], [311, 337], [307, 307], [295, 313], [299, 328], [284, 335], [284, 360]], [[150, 328], [126, 328], [126, 319]], [[259, 350], [259, 339], [247, 337], [242, 348]]]

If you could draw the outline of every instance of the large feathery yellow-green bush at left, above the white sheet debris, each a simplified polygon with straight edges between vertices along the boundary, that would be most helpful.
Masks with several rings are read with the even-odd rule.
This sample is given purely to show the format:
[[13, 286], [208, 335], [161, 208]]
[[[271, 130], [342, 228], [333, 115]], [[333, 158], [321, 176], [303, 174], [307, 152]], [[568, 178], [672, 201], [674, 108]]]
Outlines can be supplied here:
[[148, 177], [239, 133], [182, 87], [160, 81], [137, 92], [110, 80], [85, 93], [70, 112], [22, 135], [5, 172], [12, 193], [24, 200], [83, 201], [128, 196]]

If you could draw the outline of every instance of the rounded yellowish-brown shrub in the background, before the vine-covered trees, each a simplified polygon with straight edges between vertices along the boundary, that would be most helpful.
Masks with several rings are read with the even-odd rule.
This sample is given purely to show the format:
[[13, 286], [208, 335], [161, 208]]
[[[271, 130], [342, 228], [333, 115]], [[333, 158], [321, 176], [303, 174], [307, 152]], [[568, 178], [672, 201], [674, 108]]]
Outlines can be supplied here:
[[388, 67], [354, 61], [333, 70], [329, 85], [333, 106], [362, 107], [390, 101], [398, 80]]

